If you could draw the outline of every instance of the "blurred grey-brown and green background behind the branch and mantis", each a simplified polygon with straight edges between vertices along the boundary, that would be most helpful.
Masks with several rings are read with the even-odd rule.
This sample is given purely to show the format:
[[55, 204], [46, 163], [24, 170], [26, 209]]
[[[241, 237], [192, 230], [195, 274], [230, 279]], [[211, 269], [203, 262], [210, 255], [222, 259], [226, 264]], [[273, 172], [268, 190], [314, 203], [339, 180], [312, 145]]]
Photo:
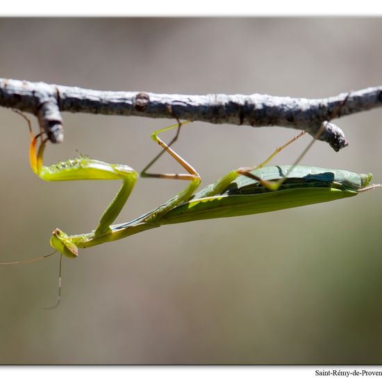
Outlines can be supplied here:
[[[329, 97], [381, 85], [382, 20], [363, 18], [0, 19], [0, 77], [98, 90]], [[140, 171], [167, 119], [63, 113], [65, 142]], [[350, 142], [303, 160], [382, 182], [382, 110], [336, 122]], [[1, 261], [48, 254], [51, 231], [95, 228], [118, 182], [44, 183], [28, 164], [24, 120], [0, 108]], [[33, 124], [37, 128], [35, 119]], [[296, 135], [194, 123], [176, 143], [203, 185], [260, 163]], [[169, 140], [172, 133], [163, 135]], [[290, 164], [305, 136], [274, 160]], [[154, 170], [154, 168], [153, 168]], [[155, 171], [177, 172], [171, 158]], [[140, 179], [118, 222], [184, 186]], [[0, 267], [1, 364], [378, 364], [382, 359], [381, 190], [328, 204], [192, 222]]]

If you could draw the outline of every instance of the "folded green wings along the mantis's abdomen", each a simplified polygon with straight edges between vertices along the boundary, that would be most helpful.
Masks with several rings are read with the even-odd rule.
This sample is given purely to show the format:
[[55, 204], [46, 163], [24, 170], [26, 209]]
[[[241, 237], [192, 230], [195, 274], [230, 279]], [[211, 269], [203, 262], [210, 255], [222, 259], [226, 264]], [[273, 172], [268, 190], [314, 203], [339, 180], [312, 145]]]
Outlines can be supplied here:
[[[265, 180], [277, 180], [291, 166], [272, 166], [253, 173]], [[269, 191], [247, 176], [239, 176], [224, 192], [210, 195], [213, 185], [194, 195], [164, 215], [160, 224], [192, 222], [200, 219], [253, 215], [354, 197], [357, 190], [367, 186], [372, 174], [356, 174], [344, 170], [296, 166], [277, 191]]]

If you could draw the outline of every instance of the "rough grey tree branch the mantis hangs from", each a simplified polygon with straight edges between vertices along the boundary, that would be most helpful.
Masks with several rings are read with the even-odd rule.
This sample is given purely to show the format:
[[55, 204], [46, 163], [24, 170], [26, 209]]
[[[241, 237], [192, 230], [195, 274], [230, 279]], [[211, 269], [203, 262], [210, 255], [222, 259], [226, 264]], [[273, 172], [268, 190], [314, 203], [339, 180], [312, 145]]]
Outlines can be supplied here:
[[[51, 142], [62, 142], [60, 111], [179, 118], [213, 124], [285, 126], [317, 135], [335, 151], [347, 146], [341, 129], [325, 123], [382, 106], [382, 86], [325, 99], [251, 95], [111, 92], [0, 78], [0, 106], [33, 113]], [[324, 125], [323, 125], [324, 124]]]

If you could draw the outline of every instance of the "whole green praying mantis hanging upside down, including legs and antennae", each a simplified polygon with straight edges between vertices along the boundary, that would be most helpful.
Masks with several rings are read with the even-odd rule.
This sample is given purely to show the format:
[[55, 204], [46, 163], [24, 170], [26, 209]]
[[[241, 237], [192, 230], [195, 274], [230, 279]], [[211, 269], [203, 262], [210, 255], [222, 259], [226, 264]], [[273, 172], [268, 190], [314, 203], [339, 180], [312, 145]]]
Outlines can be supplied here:
[[[22, 115], [22, 113], [19, 113]], [[103, 212], [96, 228], [90, 233], [67, 235], [60, 229], [55, 229], [51, 235], [50, 244], [55, 251], [52, 254], [32, 260], [17, 261], [1, 264], [19, 264], [47, 258], [56, 251], [61, 260], [63, 256], [76, 258], [79, 248], [94, 247], [106, 242], [112, 242], [135, 235], [142, 231], [158, 228], [165, 224], [192, 222], [199, 219], [214, 219], [217, 217], [233, 217], [252, 215], [269, 211], [282, 210], [332, 201], [345, 197], [354, 197], [360, 192], [372, 190], [379, 185], [370, 185], [372, 174], [356, 174], [340, 169], [324, 169], [298, 165], [302, 156], [311, 144], [301, 154], [294, 165], [270, 166], [269, 163], [277, 153], [297, 140], [304, 132], [277, 148], [263, 163], [254, 167], [240, 167], [224, 175], [214, 184], [197, 191], [201, 177], [192, 165], [183, 159], [171, 146], [178, 138], [181, 126], [187, 122], [173, 124], [154, 131], [151, 138], [162, 147], [162, 151], [151, 160], [142, 172], [142, 177], [178, 179], [188, 181], [188, 185], [172, 199], [157, 208], [144, 213], [131, 222], [113, 224], [134, 188], [138, 179], [138, 172], [127, 165], [113, 165], [100, 160], [80, 156], [56, 165], [43, 164], [44, 149], [48, 138], [44, 133], [33, 135], [31, 122], [28, 122], [31, 143], [29, 160], [36, 175], [44, 181], [78, 181], [78, 180], [120, 180], [122, 186], [113, 201]], [[175, 137], [169, 144], [161, 140], [158, 135], [177, 128]], [[158, 158], [167, 152], [185, 169], [183, 174], [153, 174], [147, 172]], [[60, 285], [60, 284], [59, 284]], [[60, 301], [60, 286], [58, 303]]]

